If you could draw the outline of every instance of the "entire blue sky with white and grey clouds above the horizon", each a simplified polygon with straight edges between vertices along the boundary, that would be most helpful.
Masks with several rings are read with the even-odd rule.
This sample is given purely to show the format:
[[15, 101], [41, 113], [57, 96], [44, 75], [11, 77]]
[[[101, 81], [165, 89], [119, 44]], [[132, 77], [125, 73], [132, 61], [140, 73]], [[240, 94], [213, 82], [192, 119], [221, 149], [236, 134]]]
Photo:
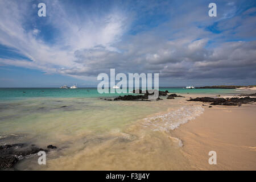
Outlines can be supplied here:
[[255, 30], [255, 0], [0, 0], [0, 87], [97, 87], [110, 68], [159, 73], [159, 86], [256, 85]]

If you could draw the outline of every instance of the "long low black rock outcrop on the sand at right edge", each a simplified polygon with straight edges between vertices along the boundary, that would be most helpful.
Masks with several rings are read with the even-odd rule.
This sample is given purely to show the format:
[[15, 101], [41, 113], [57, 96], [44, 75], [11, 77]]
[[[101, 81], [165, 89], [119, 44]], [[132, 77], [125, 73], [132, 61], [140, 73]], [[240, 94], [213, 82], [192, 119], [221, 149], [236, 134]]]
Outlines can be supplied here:
[[256, 98], [251, 97], [233, 97], [233, 98], [211, 98], [197, 97], [187, 101], [212, 102], [210, 105], [225, 105], [225, 106], [241, 106], [242, 104], [251, 104], [256, 102]]

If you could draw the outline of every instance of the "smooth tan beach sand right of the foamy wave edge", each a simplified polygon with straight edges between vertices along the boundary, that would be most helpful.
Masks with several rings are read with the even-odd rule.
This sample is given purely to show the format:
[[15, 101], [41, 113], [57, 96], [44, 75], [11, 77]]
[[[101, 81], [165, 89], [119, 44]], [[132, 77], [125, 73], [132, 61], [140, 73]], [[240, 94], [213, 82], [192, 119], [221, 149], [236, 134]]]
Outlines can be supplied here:
[[[256, 105], [205, 106], [195, 120], [173, 135], [184, 144], [191, 169], [256, 170]], [[209, 151], [217, 152], [217, 164], [208, 163]]]

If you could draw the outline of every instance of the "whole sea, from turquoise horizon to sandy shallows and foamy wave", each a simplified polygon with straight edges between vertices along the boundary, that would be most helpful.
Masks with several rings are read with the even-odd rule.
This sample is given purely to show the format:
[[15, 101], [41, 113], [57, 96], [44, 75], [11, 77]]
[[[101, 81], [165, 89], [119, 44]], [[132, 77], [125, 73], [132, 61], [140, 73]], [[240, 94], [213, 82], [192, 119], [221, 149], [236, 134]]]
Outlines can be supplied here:
[[185, 98], [107, 101], [124, 94], [97, 88], [1, 88], [0, 145], [36, 144], [58, 150], [21, 160], [16, 169], [188, 169], [183, 143], [172, 130], [204, 112], [189, 97], [239, 94], [236, 89], [159, 88]]

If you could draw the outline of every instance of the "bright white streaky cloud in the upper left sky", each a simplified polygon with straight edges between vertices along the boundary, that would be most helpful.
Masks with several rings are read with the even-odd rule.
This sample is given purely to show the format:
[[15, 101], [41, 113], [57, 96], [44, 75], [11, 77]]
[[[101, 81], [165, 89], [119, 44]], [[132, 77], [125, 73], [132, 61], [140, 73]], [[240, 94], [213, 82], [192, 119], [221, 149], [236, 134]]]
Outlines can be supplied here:
[[0, 43], [15, 48], [32, 61], [0, 59], [0, 63], [43, 69], [51, 73], [60, 68], [84, 66], [75, 61], [75, 52], [80, 49], [102, 45], [109, 50], [117, 50], [112, 45], [119, 41], [127, 26], [122, 14], [111, 12], [104, 17], [86, 16], [84, 19], [77, 19], [79, 13], [65, 13], [64, 6], [59, 1], [49, 1], [48, 6], [49, 4], [59, 10], [49, 14], [48, 23], [60, 31], [58, 41], [51, 45], [36, 37], [40, 32], [38, 28], [31, 31], [24, 28], [27, 21], [25, 17], [33, 19], [24, 14], [30, 7], [26, 2], [0, 2]]

